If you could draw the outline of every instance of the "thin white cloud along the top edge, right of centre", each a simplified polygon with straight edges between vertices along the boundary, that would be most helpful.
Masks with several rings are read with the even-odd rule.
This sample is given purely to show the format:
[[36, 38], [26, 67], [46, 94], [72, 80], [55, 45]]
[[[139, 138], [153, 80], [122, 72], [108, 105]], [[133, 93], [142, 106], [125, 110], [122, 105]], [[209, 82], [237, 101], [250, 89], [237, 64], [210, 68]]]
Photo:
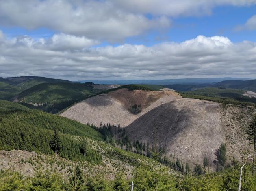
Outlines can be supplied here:
[[222, 5], [249, 6], [256, 0], [113, 0], [123, 9], [156, 15], [200, 16], [211, 13], [213, 7]]

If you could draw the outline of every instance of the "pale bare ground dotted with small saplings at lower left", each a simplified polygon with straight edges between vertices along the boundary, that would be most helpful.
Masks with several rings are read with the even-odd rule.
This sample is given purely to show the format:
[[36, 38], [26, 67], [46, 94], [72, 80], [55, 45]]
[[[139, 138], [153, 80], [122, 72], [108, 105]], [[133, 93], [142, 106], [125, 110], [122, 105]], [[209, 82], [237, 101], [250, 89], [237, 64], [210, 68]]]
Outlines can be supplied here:
[[106, 179], [113, 179], [118, 172], [123, 172], [131, 178], [134, 167], [119, 160], [102, 155], [100, 165], [91, 165], [89, 162], [74, 162], [58, 155], [43, 155], [28, 151], [0, 151], [0, 169], [17, 171], [24, 176], [33, 176], [41, 168], [60, 173], [63, 178], [69, 179], [76, 165], [79, 165], [87, 176], [104, 175]]

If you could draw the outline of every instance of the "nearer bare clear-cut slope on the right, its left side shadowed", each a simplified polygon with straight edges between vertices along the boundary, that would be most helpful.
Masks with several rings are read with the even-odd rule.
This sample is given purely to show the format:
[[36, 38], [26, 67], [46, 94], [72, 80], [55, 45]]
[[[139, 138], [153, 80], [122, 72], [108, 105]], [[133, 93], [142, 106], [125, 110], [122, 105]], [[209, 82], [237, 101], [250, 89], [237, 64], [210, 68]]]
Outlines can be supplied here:
[[172, 154], [183, 163], [193, 164], [207, 157], [212, 166], [215, 150], [222, 142], [227, 144], [229, 158], [241, 159], [245, 140], [242, 128], [255, 112], [253, 107], [182, 98], [152, 109], [125, 129], [132, 140], [152, 144], [156, 126], [157, 140], [167, 156]]

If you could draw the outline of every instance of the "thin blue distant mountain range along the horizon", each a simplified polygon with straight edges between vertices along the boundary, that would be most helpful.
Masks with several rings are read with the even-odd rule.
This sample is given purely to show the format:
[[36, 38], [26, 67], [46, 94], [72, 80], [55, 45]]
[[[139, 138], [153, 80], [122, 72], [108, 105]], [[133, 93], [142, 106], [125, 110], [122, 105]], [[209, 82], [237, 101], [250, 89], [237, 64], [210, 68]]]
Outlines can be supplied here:
[[168, 79], [168, 80], [80, 80], [77, 82], [93, 82], [95, 84], [153, 84], [153, 85], [169, 85], [169, 84], [210, 84], [224, 80], [251, 80], [250, 78], [184, 78], [184, 79]]

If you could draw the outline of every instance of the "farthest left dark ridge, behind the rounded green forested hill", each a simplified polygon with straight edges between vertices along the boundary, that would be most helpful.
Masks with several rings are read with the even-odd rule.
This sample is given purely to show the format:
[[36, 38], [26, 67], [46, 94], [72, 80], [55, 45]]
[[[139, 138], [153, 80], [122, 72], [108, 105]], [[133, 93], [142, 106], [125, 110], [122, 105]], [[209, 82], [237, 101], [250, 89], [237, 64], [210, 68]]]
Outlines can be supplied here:
[[70, 82], [53, 78], [44, 78], [37, 76], [22, 76], [11, 78], [0, 78], [0, 99], [11, 100], [18, 93], [41, 83]]

